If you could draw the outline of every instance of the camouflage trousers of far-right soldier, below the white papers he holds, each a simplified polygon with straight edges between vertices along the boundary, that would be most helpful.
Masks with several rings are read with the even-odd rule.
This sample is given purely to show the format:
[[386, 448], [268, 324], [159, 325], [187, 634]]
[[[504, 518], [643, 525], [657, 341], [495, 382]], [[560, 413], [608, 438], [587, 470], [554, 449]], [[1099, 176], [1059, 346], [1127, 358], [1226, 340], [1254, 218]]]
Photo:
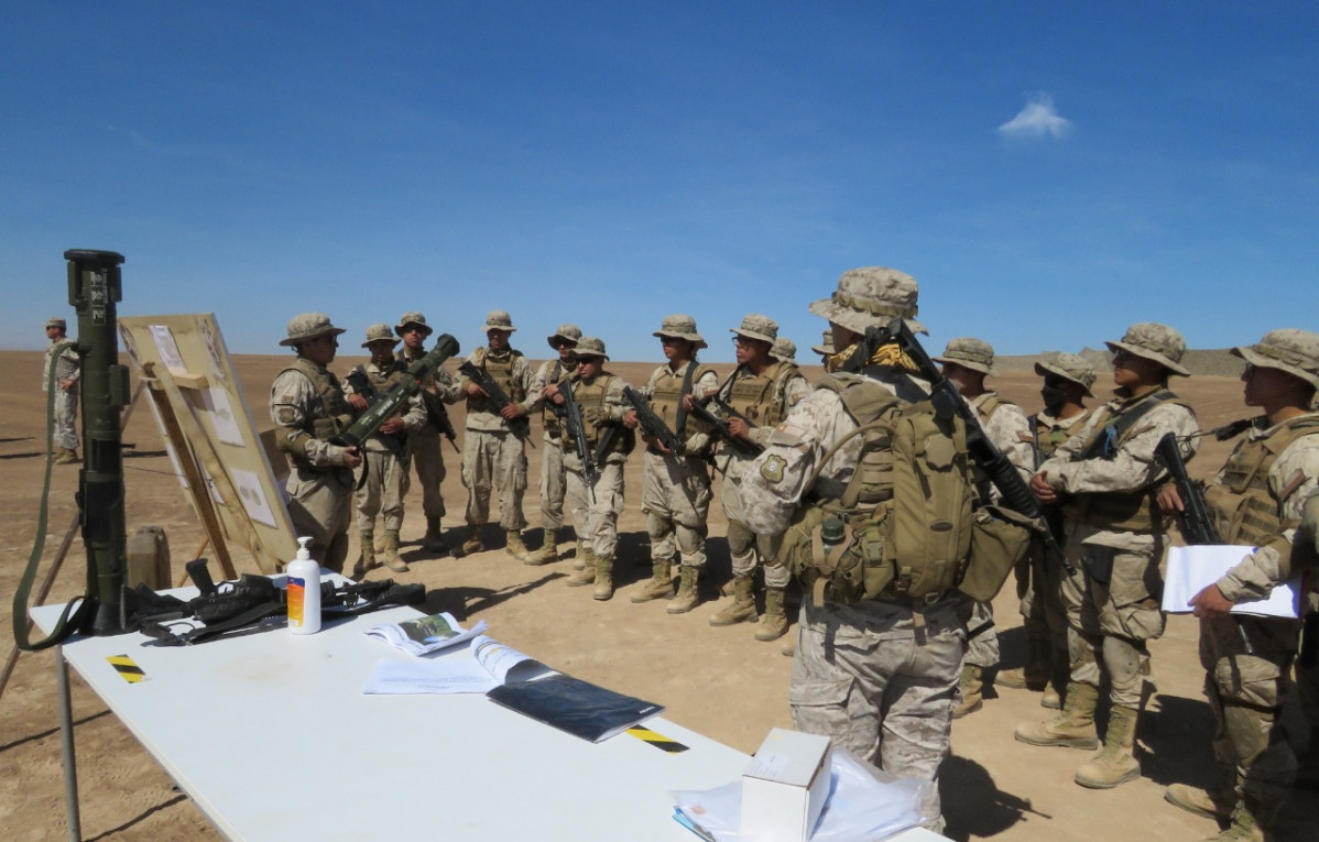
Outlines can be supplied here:
[[[1200, 621], [1204, 696], [1213, 710], [1213, 759], [1264, 817], [1286, 801], [1297, 758], [1279, 722], [1291, 689], [1299, 623], [1225, 617]], [[1253, 655], [1246, 654], [1245, 640]]]

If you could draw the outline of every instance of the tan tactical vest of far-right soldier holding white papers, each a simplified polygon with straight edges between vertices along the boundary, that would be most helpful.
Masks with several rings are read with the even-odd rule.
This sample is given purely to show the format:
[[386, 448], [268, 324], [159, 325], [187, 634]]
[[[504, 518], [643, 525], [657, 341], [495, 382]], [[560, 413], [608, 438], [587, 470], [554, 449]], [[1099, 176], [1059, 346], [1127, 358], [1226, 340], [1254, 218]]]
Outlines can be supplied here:
[[1294, 441], [1315, 434], [1319, 434], [1319, 416], [1302, 415], [1232, 451], [1223, 466], [1223, 481], [1211, 485], [1204, 494], [1224, 543], [1258, 547], [1298, 526], [1297, 520], [1282, 517], [1285, 499], [1274, 497], [1269, 488], [1269, 469]]

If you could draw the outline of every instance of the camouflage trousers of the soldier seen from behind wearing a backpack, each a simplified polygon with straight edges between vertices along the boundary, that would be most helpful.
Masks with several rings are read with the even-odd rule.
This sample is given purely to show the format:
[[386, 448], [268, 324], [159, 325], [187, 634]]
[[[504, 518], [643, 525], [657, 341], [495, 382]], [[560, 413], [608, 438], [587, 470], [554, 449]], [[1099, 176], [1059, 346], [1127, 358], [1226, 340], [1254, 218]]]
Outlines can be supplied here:
[[[909, 607], [807, 600], [787, 690], [793, 722], [892, 775], [938, 784], [963, 638], [955, 601], [926, 609], [918, 627]], [[926, 808], [939, 814], [938, 785]]]

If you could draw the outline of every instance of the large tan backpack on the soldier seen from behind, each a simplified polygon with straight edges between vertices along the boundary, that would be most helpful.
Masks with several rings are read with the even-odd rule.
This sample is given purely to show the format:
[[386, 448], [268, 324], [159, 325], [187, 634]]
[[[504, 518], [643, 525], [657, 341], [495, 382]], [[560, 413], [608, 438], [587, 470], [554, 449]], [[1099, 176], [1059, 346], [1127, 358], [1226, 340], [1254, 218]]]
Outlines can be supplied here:
[[[929, 401], [904, 402], [861, 376], [831, 374], [820, 389], [857, 424], [820, 468], [851, 436], [861, 436], [861, 452], [845, 485], [810, 486], [781, 556], [818, 602], [943, 598], [967, 573], [976, 517], [962, 419], [940, 419]], [[777, 469], [774, 459], [762, 457], [762, 474]]]

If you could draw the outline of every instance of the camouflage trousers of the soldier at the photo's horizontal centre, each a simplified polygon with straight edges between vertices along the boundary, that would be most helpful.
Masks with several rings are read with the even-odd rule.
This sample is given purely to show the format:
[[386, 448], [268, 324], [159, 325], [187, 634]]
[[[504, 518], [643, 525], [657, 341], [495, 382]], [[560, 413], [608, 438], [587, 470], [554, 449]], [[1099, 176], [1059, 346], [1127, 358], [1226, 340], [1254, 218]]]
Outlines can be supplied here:
[[704, 460], [646, 452], [641, 511], [646, 515], [652, 560], [669, 561], [679, 553], [685, 567], [706, 565], [710, 497]]

